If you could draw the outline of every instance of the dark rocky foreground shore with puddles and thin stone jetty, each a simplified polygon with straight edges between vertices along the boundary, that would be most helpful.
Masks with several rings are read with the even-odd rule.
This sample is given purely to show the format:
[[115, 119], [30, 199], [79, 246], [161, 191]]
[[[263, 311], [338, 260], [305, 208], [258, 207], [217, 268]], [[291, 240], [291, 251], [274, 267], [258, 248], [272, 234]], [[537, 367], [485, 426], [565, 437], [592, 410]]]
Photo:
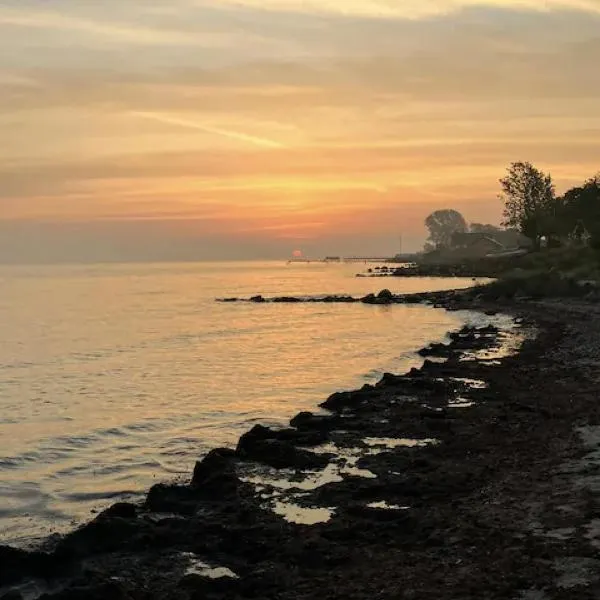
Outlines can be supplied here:
[[0, 546], [0, 598], [598, 598], [597, 305], [369, 298], [515, 325], [453, 332], [36, 551]]

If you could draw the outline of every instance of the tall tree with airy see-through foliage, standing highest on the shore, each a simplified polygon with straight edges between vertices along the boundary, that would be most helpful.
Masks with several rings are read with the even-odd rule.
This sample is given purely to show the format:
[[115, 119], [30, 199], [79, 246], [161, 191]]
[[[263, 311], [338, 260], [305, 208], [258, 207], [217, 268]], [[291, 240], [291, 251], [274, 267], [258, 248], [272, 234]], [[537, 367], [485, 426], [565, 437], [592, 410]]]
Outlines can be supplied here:
[[557, 227], [552, 178], [531, 163], [516, 162], [500, 179], [500, 185], [500, 199], [504, 202], [503, 225], [517, 228], [539, 248], [541, 237], [555, 233]]

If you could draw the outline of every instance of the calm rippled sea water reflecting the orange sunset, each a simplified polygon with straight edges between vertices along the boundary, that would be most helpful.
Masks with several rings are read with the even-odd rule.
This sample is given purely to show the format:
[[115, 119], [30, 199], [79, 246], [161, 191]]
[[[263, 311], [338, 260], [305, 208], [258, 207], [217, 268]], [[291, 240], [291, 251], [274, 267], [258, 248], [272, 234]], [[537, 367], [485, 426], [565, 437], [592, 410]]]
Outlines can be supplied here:
[[421, 306], [222, 304], [216, 297], [447, 289], [360, 266], [0, 267], [0, 542], [87, 520], [210, 448], [419, 363], [469, 315]]

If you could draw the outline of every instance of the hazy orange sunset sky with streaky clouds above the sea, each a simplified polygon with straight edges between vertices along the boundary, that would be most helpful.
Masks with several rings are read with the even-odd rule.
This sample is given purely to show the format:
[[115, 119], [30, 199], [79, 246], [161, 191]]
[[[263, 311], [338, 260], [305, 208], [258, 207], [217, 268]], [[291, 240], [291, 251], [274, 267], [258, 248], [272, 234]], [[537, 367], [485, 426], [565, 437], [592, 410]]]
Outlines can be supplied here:
[[0, 262], [391, 255], [600, 170], [600, 0], [0, 0]]

